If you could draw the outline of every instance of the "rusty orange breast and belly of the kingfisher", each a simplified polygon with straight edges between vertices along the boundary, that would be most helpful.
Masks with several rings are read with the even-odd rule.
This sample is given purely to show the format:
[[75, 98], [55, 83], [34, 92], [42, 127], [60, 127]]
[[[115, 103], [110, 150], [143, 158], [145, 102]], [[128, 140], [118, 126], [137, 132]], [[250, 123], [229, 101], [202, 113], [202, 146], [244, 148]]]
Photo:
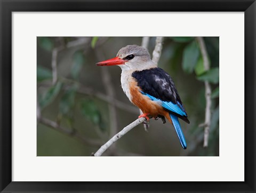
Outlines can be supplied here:
[[140, 93], [140, 88], [137, 86], [135, 80], [131, 81], [130, 93], [132, 96], [132, 103], [138, 106], [143, 113], [149, 113], [152, 116], [166, 115], [167, 112], [160, 104]]

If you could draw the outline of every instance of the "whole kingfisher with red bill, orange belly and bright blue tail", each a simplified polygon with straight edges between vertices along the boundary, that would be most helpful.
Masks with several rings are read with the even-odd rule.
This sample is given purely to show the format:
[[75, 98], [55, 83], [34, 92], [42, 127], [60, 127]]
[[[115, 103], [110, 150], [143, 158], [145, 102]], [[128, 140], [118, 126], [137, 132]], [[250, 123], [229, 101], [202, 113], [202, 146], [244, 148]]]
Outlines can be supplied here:
[[148, 50], [137, 45], [121, 48], [117, 56], [96, 63], [98, 66], [118, 65], [122, 69], [121, 84], [132, 104], [139, 107], [143, 117], [165, 118], [173, 124], [183, 149], [187, 148], [179, 119], [189, 123], [188, 115], [181, 102], [171, 76], [150, 58]]

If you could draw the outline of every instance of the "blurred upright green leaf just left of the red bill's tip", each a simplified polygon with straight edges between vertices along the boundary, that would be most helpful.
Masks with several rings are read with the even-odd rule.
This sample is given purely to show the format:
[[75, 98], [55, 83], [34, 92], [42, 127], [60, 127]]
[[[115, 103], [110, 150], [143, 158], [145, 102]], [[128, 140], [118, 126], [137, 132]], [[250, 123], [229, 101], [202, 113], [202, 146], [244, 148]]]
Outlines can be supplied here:
[[75, 52], [73, 56], [73, 66], [71, 68], [71, 76], [78, 80], [79, 72], [81, 72], [82, 66], [85, 62], [84, 54], [82, 51]]

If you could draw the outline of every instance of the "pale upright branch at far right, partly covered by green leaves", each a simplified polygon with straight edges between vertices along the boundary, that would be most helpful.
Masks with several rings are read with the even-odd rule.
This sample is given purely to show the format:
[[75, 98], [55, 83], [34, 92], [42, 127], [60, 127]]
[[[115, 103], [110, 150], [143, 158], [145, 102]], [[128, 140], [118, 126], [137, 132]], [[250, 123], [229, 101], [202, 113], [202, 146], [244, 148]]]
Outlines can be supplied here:
[[[206, 51], [204, 39], [202, 37], [197, 37], [196, 39], [199, 43], [201, 54], [203, 56], [204, 69], [207, 71], [210, 69], [210, 63], [209, 63], [209, 58], [208, 58], [208, 54]], [[212, 91], [211, 91], [211, 85], [208, 81], [204, 82], [204, 86], [205, 86], [206, 107], [205, 107], [204, 145], [203, 146], [207, 147], [208, 141], [209, 141], [210, 127], [211, 127], [211, 104], [212, 104], [211, 94], [212, 94]]]

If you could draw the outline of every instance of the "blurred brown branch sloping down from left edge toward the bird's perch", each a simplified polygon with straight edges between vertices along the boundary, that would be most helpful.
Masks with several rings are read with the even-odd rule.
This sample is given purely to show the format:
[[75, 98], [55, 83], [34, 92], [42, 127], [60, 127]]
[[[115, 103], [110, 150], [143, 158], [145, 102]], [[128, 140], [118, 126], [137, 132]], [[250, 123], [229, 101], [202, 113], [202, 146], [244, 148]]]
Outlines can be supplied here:
[[59, 131], [59, 132], [64, 133], [68, 136], [71, 136], [71, 137], [76, 137], [77, 139], [81, 140], [86, 145], [90, 145], [90, 146], [100, 146], [101, 145], [100, 141], [97, 141], [95, 139], [92, 140], [92, 139], [89, 139], [89, 138], [82, 137], [82, 135], [77, 130], [70, 130], [70, 129], [63, 128], [59, 124], [57, 124], [56, 122], [51, 121], [49, 119], [45, 119], [45, 118], [41, 117], [37, 120], [38, 120], [38, 122], [41, 122], [44, 125], [46, 125], [48, 127], [51, 127], [52, 129], [54, 129], [56, 131]]

